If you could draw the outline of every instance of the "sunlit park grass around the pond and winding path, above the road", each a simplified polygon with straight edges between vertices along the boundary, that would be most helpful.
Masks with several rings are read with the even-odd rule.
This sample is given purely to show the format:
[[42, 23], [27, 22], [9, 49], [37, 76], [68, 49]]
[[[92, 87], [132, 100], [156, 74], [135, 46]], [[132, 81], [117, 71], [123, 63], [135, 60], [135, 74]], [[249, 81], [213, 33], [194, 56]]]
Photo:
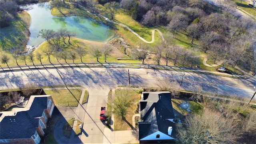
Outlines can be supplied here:
[[[238, 4], [238, 1], [240, 2], [240, 0], [234, 0], [234, 1], [237, 4]], [[98, 12], [100, 14], [110, 18], [108, 10], [106, 10], [106, 8], [104, 6], [97, 4], [95, 8], [98, 10]], [[88, 11], [92, 12], [91, 7], [87, 6], [86, 9]], [[248, 11], [250, 13], [250, 10], [246, 9], [246, 11]], [[252, 13], [254, 11], [255, 10], [252, 10]], [[146, 44], [145, 42], [140, 40], [136, 35], [134, 35], [132, 32], [130, 32], [130, 30], [128, 30], [127, 28], [124, 28], [123, 26], [120, 26], [118, 24], [113, 24], [111, 22], [107, 22], [106, 20], [104, 20], [104, 18], [95, 16], [95, 15], [87, 12], [84, 8], [76, 8], [76, 7], [74, 7], [74, 5], [72, 5], [70, 3], [66, 3], [65, 7], [61, 8], [61, 12], [59, 12], [59, 10], [57, 8], [53, 8], [51, 13], [54, 16], [74, 16], [74, 15], [76, 15], [76, 16], [86, 16], [89, 18], [93, 18], [95, 20], [98, 20], [105, 24], [108, 24], [112, 28], [118, 30], [118, 33], [120, 34], [120, 36], [122, 38], [124, 38], [132, 48], [140, 46], [140, 44]], [[17, 20], [16, 22], [13, 22], [12, 26], [9, 26], [7, 28], [1, 28], [1, 42], [0, 42], [1, 53], [6, 54], [10, 58], [10, 60], [8, 62], [9, 66], [17, 66], [15, 59], [12, 58], [10, 48], [17, 46], [17, 45], [20, 45], [22, 48], [24, 48], [24, 46], [28, 40], [28, 37], [29, 37], [29, 32], [26, 32], [26, 30], [28, 30], [28, 28], [29, 28], [30, 17], [26, 12], [20, 13], [19, 17], [20, 17], [20, 19]], [[122, 23], [122, 24], [128, 26], [129, 28], [134, 30], [134, 32], [136, 32], [138, 35], [140, 35], [142, 38], [144, 38], [147, 41], [152, 40], [152, 30], [153, 29], [157, 28], [163, 34], [165, 34], [169, 31], [165, 26], [153, 26], [153, 27], [142, 26], [139, 22], [133, 20], [130, 16], [128, 16], [128, 14], [126, 14], [125, 10], [122, 8], [120, 8], [116, 11], [113, 21], [119, 22], [119, 23]], [[7, 31], [8, 32], [11, 31], [11, 32], [8, 33]], [[6, 34], [6, 35], [4, 35], [4, 34]], [[24, 40], [22, 39], [22, 40], [18, 41], [17, 38], [20, 38], [20, 37], [24, 38]], [[13, 40], [12, 38], [16, 38], [16, 40]], [[179, 32], [175, 33], [175, 38], [173, 39], [173, 43], [183, 46], [187, 50], [194, 51], [198, 48], [197, 40], [194, 40], [194, 44], [191, 44], [191, 40], [192, 40], [192, 38], [185, 31], [181, 31], [181, 32], [179, 31]], [[14, 41], [15, 43], [11, 43], [12, 41]], [[160, 38], [160, 34], [156, 31], [155, 32], [155, 42], [152, 44], [146, 44], [146, 45], [149, 45], [150, 47], [155, 47], [161, 41], [162, 40]], [[76, 47], [81, 47], [81, 48], [87, 50], [86, 54], [82, 57], [82, 62], [97, 63], [96, 58], [94, 58], [89, 53], [89, 51], [92, 48], [92, 46], [102, 47], [103, 43], [82, 40], [79, 38], [71, 38], [71, 43], [76, 44]], [[44, 54], [44, 52], [42, 52], [49, 46], [50, 45], [47, 42], [44, 42], [33, 52], [34, 55], [36, 55], [36, 53], [41, 53], [43, 55], [42, 60], [41, 60], [42, 64], [50, 63], [47, 56]], [[72, 52], [72, 50], [76, 49], [76, 47], [68, 47], [63, 44], [62, 49], [65, 50], [66, 52]], [[113, 51], [111, 52], [111, 55], [107, 57], [107, 62], [142, 63], [140, 60], [117, 60], [117, 58], [128, 58], [128, 56], [124, 54], [123, 50], [120, 51], [114, 47], [112, 47], [112, 49], [113, 49]], [[202, 54], [205, 55], [206, 53], [201, 52], [201, 51], [196, 52], [196, 55], [202, 55]], [[156, 64], [156, 62], [153, 59], [154, 59], [154, 56], [151, 57], [150, 59], [146, 59], [145, 63], [146, 64]], [[203, 59], [204, 59], [203, 57], [196, 58], [195, 64], [192, 67], [193, 68], [199, 67], [200, 69], [203, 69], [203, 70], [216, 71], [212, 67], [204, 66], [204, 64], [202, 63]], [[50, 61], [52, 64], [66, 63], [66, 62], [73, 63], [73, 60], [71, 60], [70, 58], [67, 58], [67, 60], [59, 58], [59, 60], [57, 60], [53, 55], [50, 57]], [[212, 60], [209, 58], [208, 59], [209, 64], [211, 64], [211, 61]], [[41, 64], [40, 61], [36, 58], [34, 58], [33, 62], [35, 65]], [[103, 63], [104, 56], [100, 56], [98, 62]], [[216, 62], [218, 62], [218, 60]], [[17, 63], [19, 66], [25, 65], [24, 60], [22, 60], [20, 58], [17, 59]], [[74, 63], [81, 63], [81, 60], [78, 56], [76, 56], [76, 58], [74, 59]], [[160, 61], [160, 64], [165, 65], [165, 63], [166, 62], [164, 62], [164, 58], [162, 58], [162, 60]], [[32, 61], [27, 59], [26, 64], [32, 65], [33, 63], [32, 63]], [[0, 63], [0, 65], [1, 65], [1, 67], [7, 67], [7, 65], [2, 62]], [[170, 60], [168, 62], [168, 65], [174, 66], [173, 61]], [[189, 64], [188, 62], [185, 62], [184, 64], [182, 64], [182, 60], [178, 60], [176, 63], [176, 66], [179, 66], [179, 67], [183, 66], [183, 65], [184, 65], [184, 67], [191, 67], [191, 64]], [[228, 68], [230, 68], [232, 70], [232, 66], [228, 67]], [[235, 73], [239, 73], [239, 70], [234, 69], [234, 71], [235, 71]]]

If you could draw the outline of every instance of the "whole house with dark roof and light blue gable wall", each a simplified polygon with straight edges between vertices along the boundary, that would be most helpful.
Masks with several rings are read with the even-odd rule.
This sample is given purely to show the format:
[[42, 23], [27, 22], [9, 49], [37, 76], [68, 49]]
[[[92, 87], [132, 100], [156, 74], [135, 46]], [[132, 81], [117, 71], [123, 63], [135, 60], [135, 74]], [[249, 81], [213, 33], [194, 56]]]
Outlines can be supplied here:
[[175, 116], [170, 92], [143, 92], [140, 100], [140, 118], [140, 144], [176, 141]]

